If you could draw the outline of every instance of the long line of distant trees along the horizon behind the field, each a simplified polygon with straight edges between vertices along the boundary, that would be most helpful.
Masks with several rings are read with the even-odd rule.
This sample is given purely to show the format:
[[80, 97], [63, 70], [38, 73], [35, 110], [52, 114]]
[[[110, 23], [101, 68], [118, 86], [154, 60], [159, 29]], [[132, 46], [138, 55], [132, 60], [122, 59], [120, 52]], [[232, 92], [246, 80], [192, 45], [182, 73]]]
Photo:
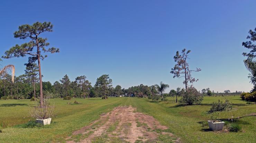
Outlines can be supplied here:
[[[30, 99], [33, 96], [38, 98], [40, 94], [40, 88], [37, 76], [37, 74], [32, 74], [31, 76], [31, 72], [26, 71], [26, 74], [15, 76], [14, 83], [12, 83], [10, 74], [6, 73], [2, 75], [0, 77], [0, 99]], [[81, 78], [83, 78], [82, 84]], [[101, 90], [101, 87], [97, 84], [92, 86], [91, 83], [86, 80], [85, 76], [77, 77], [76, 80], [71, 81], [68, 76], [65, 75], [62, 79], [54, 82], [53, 84], [49, 81], [43, 82], [43, 93], [50, 98], [63, 98], [65, 96], [80, 98], [103, 97], [104, 93]], [[181, 96], [183, 90], [185, 89], [172, 89], [169, 92], [166, 91], [166, 93], [163, 93], [163, 96]], [[112, 80], [111, 83], [107, 85], [105, 92], [106, 96], [125, 95], [134, 97], [146, 97], [149, 99], [152, 98], [152, 95], [161, 94], [161, 92], [155, 88], [155, 85], [148, 86], [140, 84], [138, 86], [131, 86], [125, 89], [120, 85], [112, 87]], [[214, 92], [211, 91], [210, 88], [202, 89], [201, 91], [199, 90], [199, 92], [205, 96], [240, 95], [241, 93], [244, 93], [241, 91], [230, 92], [228, 89], [224, 92]], [[4, 96], [7, 96], [8, 98], [3, 98]]]

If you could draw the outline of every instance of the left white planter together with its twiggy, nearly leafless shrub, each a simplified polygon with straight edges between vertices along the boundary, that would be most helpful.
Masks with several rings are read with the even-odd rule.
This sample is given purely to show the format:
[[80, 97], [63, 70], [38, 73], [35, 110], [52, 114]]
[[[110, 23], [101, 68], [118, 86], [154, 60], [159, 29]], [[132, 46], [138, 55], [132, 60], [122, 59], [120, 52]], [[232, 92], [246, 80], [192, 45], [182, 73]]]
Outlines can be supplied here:
[[30, 115], [36, 119], [37, 123], [48, 125], [51, 123], [54, 107], [54, 104], [51, 105], [49, 97], [45, 97], [42, 106], [40, 106], [40, 102], [37, 102], [35, 107], [31, 108]]

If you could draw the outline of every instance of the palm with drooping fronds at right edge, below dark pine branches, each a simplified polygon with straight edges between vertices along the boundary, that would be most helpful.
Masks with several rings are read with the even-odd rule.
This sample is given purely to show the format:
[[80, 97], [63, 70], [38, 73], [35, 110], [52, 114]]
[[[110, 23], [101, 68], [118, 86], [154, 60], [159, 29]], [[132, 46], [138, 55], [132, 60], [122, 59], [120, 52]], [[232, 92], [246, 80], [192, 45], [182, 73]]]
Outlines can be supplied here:
[[253, 57], [248, 57], [246, 60], [244, 60], [245, 67], [247, 70], [250, 71], [250, 74], [248, 78], [250, 78], [251, 83], [254, 85], [254, 89], [252, 91], [256, 90], [256, 60]]

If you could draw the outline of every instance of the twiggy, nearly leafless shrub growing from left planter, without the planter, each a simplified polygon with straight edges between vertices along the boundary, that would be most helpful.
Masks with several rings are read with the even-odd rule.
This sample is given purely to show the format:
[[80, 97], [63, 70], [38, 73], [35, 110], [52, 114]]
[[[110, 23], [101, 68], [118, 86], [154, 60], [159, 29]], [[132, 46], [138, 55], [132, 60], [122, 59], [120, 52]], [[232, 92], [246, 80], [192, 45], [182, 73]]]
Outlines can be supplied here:
[[46, 96], [43, 99], [42, 107], [40, 106], [40, 102], [36, 102], [35, 107], [31, 108], [29, 113], [31, 117], [36, 119], [47, 119], [53, 116], [54, 107], [54, 104], [51, 105], [49, 97]]

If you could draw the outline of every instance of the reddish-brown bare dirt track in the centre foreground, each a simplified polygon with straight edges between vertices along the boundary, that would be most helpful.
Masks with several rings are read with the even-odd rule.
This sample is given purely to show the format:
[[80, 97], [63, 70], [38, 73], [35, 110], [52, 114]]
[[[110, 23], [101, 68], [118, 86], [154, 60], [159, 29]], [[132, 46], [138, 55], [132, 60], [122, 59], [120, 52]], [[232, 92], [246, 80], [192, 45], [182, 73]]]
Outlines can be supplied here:
[[[79, 141], [80, 143], [91, 143], [95, 137], [107, 135], [110, 138], [118, 138], [124, 142], [134, 143], [136, 140], [150, 141], [156, 140], [159, 135], [169, 135], [172, 133], [164, 132], [168, 127], [161, 125], [152, 116], [135, 112], [132, 106], [116, 107], [113, 111], [102, 114], [99, 120], [90, 125], [82, 127], [73, 132], [72, 136], [86, 135], [79, 140], [73, 137], [66, 138], [68, 143]], [[90, 134], [88, 134], [90, 132]], [[180, 138], [173, 142], [180, 142]]]

